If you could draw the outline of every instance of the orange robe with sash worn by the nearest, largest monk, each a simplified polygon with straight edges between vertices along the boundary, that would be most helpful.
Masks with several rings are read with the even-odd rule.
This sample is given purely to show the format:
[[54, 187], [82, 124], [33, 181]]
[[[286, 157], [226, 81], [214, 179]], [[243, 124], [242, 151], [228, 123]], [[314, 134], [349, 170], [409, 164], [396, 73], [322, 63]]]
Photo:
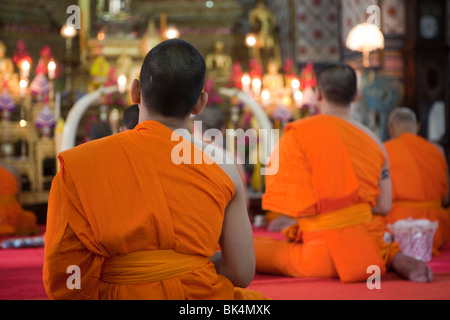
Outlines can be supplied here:
[[[146, 121], [60, 154], [45, 239], [43, 280], [51, 299], [258, 297], [234, 288], [210, 261], [233, 183], [216, 164], [174, 164], [179, 142], [171, 136]], [[165, 263], [187, 263], [188, 270], [165, 270]], [[80, 289], [68, 289], [70, 266], [80, 269]], [[155, 280], [150, 269], [163, 275]]]

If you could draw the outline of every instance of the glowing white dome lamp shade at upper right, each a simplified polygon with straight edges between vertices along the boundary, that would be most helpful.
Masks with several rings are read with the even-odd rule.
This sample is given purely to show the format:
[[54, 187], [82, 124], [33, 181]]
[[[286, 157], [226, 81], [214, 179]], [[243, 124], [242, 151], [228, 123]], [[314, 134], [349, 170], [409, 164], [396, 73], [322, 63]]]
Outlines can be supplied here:
[[361, 23], [348, 34], [346, 46], [352, 51], [370, 52], [384, 48], [384, 36], [374, 24]]

